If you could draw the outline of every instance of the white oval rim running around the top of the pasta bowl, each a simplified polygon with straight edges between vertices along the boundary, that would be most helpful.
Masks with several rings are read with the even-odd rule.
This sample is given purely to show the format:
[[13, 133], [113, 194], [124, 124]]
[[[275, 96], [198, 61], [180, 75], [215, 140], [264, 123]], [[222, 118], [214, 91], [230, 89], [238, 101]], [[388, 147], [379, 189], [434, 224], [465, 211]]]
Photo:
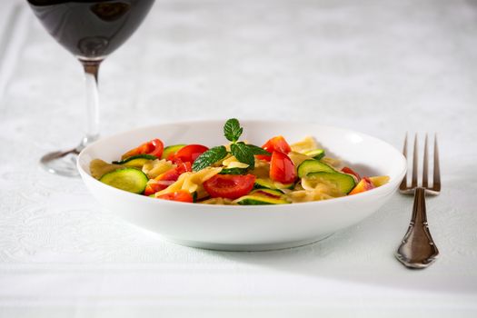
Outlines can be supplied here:
[[[88, 152], [90, 148], [93, 148], [96, 144], [101, 144], [105, 143], [107, 141], [110, 141], [112, 139], [117, 139], [120, 138], [124, 134], [133, 134], [138, 131], [146, 131], [150, 129], [155, 129], [157, 127], [165, 126], [165, 125], [176, 125], [176, 124], [224, 124], [224, 119], [211, 119], [211, 120], [188, 120], [188, 121], [177, 121], [177, 122], [167, 122], [167, 123], [161, 123], [161, 124], [150, 124], [146, 126], [141, 126], [141, 127], [136, 127], [134, 129], [126, 130], [123, 132], [119, 132], [116, 134], [111, 134], [108, 136], [105, 136], [97, 141], [95, 141], [92, 144], [88, 144], [84, 149], [78, 154], [78, 158], [76, 161], [76, 167], [81, 174], [82, 178], [86, 178], [88, 180], [91, 180], [94, 183], [97, 183], [98, 186], [102, 187], [105, 191], [113, 191], [117, 193], [118, 195], [125, 195], [128, 199], [132, 200], [137, 200], [138, 202], [157, 202], [159, 205], [170, 205], [170, 206], [176, 206], [177, 204], [181, 204], [184, 206], [184, 204], [188, 203], [182, 203], [182, 202], [174, 202], [174, 201], [169, 201], [169, 200], [157, 200], [155, 198], [151, 198], [145, 195], [140, 195], [140, 194], [132, 194], [127, 191], [121, 190], [114, 188], [110, 185], [103, 184], [99, 180], [95, 179], [91, 174], [86, 172], [81, 163], [81, 158], [84, 156], [85, 153]], [[401, 164], [401, 169], [397, 176], [395, 178], [391, 178], [390, 182], [387, 184], [383, 184], [382, 186], [379, 186], [373, 191], [366, 191], [360, 194], [353, 194], [353, 195], [348, 195], [348, 196], [342, 196], [338, 198], [333, 198], [329, 200], [321, 200], [321, 201], [313, 201], [313, 202], [305, 202], [305, 203], [295, 203], [295, 204], [263, 204], [263, 205], [226, 205], [226, 204], [188, 204], [190, 205], [190, 208], [197, 208], [197, 209], [222, 209], [222, 210], [242, 210], [242, 211], [253, 211], [256, 213], [257, 210], [281, 210], [286, 211], [287, 209], [292, 208], [293, 210], [296, 209], [299, 206], [310, 206], [312, 204], [316, 205], [316, 207], [324, 207], [328, 206], [329, 204], [348, 204], [348, 203], [353, 203], [353, 201], [358, 201], [358, 200], [365, 200], [366, 198], [369, 198], [371, 196], [376, 196], [379, 197], [380, 194], [386, 194], [386, 193], [391, 193], [393, 192], [393, 189], [397, 187], [398, 184], [401, 183], [402, 178], [404, 175], [407, 173], [407, 162], [406, 158], [403, 156], [401, 152], [399, 152], [392, 144], [386, 143], [380, 138], [374, 137], [373, 135], [370, 134], [364, 134], [355, 130], [343, 128], [343, 127], [338, 127], [338, 126], [333, 126], [333, 125], [328, 125], [328, 124], [319, 124], [315, 122], [309, 122], [309, 121], [283, 121], [283, 120], [256, 120], [256, 119], [243, 119], [241, 120], [241, 124], [260, 124], [260, 123], [266, 123], [266, 124], [313, 124], [320, 126], [323, 129], [332, 129], [336, 131], [341, 131], [342, 133], [347, 133], [347, 134], [357, 134], [359, 136], [365, 137], [365, 138], [370, 138], [374, 142], [378, 142], [379, 144], [383, 144], [385, 146], [391, 147], [395, 152], [396, 155], [400, 158], [400, 164]], [[332, 146], [333, 147], [333, 146]], [[144, 201], [147, 200], [147, 201]], [[292, 210], [290, 209], [290, 210]]]

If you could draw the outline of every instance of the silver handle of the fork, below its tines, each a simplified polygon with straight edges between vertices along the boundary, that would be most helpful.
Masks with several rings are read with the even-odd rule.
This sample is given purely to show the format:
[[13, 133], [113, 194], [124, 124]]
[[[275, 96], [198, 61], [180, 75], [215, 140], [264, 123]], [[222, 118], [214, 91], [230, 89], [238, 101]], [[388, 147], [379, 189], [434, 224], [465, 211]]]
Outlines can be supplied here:
[[438, 255], [439, 250], [427, 226], [425, 189], [417, 187], [414, 190], [411, 223], [395, 256], [407, 267], [425, 268], [435, 261]]

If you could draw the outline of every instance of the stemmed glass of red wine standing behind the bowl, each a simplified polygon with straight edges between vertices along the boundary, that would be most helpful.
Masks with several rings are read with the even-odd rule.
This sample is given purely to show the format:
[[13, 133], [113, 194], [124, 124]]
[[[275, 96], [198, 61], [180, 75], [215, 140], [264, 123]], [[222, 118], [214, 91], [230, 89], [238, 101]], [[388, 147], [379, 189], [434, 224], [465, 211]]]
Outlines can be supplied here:
[[84, 137], [74, 149], [45, 154], [40, 160], [52, 174], [76, 176], [77, 155], [99, 137], [99, 65], [141, 25], [154, 0], [27, 1], [50, 35], [84, 67], [87, 110]]

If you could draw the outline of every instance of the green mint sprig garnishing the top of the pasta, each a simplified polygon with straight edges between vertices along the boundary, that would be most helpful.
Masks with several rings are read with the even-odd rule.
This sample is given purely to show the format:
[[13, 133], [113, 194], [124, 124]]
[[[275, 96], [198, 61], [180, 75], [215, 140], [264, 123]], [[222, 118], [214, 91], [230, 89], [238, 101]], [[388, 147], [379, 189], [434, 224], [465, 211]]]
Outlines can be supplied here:
[[224, 124], [224, 136], [231, 142], [230, 153], [227, 152], [224, 145], [213, 147], [195, 159], [192, 169], [194, 171], [202, 170], [223, 160], [228, 154], [233, 154], [239, 162], [248, 164], [249, 167], [253, 169], [255, 166], [255, 154], [270, 155], [270, 153], [254, 144], [239, 142], [242, 133], [243, 127], [240, 126], [240, 123], [236, 118], [227, 120]]

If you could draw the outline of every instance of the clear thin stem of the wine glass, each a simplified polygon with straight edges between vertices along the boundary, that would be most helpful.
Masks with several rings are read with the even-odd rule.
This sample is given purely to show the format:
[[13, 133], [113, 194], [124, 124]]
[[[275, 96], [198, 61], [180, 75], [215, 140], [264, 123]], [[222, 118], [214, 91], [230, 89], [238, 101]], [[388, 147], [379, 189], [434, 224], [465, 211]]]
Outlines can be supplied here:
[[84, 67], [86, 84], [86, 134], [77, 148], [79, 151], [99, 137], [98, 71], [102, 60], [80, 60], [80, 62]]

